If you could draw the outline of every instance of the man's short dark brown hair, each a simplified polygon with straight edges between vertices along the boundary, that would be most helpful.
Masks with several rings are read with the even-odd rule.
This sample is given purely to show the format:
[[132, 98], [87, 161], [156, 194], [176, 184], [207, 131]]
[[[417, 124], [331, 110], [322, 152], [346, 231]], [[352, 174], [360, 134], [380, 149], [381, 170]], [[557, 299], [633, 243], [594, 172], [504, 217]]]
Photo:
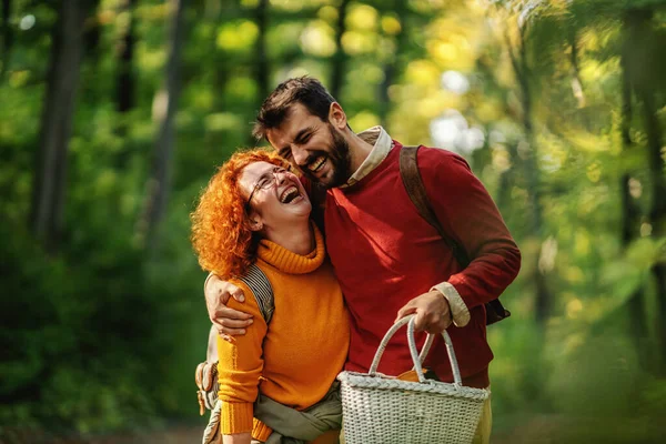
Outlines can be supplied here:
[[284, 122], [294, 103], [301, 103], [311, 114], [326, 121], [331, 103], [335, 101], [316, 79], [307, 75], [289, 79], [280, 83], [262, 103], [256, 114], [252, 135], [256, 140], [265, 138], [269, 130], [278, 128]]

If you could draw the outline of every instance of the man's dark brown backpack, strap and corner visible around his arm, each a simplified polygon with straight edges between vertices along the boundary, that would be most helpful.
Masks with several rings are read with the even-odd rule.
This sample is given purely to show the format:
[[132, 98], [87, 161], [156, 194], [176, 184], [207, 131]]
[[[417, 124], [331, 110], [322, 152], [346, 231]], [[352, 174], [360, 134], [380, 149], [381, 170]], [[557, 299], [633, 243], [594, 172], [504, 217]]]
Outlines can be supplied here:
[[[403, 147], [400, 151], [400, 175], [402, 178], [403, 185], [405, 185], [405, 190], [414, 203], [414, 206], [416, 206], [418, 214], [435, 230], [437, 230], [437, 233], [440, 233], [442, 240], [444, 240], [444, 242], [453, 251], [453, 256], [455, 260], [463, 269], [466, 269], [471, 262], [467, 253], [451, 235], [446, 234], [427, 199], [425, 185], [423, 184], [421, 172], [418, 171], [418, 163], [416, 162], [420, 147], [421, 145]], [[498, 299], [487, 302], [485, 304], [485, 309], [486, 325], [494, 324], [495, 322], [500, 322], [503, 319], [511, 316], [511, 312], [504, 309]]]

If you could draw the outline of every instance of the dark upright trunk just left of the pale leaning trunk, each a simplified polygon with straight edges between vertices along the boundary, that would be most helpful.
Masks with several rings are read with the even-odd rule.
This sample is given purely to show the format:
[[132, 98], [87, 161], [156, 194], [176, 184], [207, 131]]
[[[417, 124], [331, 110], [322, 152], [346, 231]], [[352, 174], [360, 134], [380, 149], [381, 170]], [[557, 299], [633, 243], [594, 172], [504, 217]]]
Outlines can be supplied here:
[[115, 47], [118, 74], [115, 78], [115, 109], [125, 113], [134, 108], [134, 4], [137, 0], [122, 0], [119, 12], [127, 20], [120, 24], [122, 31]]

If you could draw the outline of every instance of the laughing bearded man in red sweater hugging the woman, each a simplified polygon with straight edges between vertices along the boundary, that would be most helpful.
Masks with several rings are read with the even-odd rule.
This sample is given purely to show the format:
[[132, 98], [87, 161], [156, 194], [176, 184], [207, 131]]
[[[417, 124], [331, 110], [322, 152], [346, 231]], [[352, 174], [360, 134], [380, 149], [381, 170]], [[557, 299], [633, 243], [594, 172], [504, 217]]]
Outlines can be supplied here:
[[[467, 163], [445, 150], [418, 151], [434, 212], [472, 260], [462, 269], [405, 191], [398, 168], [402, 144], [380, 127], [354, 133], [342, 107], [315, 79], [280, 84], [264, 101], [254, 135], [265, 138], [305, 178], [327, 190], [326, 249], [351, 313], [346, 370], [366, 372], [391, 324], [415, 313], [420, 331], [441, 333], [454, 324], [447, 332], [463, 383], [487, 387], [493, 353], [484, 303], [517, 275], [521, 253]], [[242, 299], [239, 290], [216, 276], [209, 276], [204, 287], [220, 333], [243, 334], [252, 320], [224, 305], [230, 295]], [[442, 381], [453, 380], [443, 341], [435, 342], [424, 365]], [[411, 367], [406, 339], [396, 335], [380, 371], [397, 375]], [[478, 442], [490, 436], [487, 407]]]

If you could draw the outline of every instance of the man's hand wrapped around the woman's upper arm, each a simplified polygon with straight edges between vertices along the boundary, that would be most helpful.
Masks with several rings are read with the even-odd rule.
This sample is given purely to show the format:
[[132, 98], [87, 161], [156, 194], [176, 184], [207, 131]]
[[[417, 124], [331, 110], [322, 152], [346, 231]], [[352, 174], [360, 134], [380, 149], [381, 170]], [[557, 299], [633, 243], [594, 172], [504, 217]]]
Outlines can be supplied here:
[[213, 274], [206, 280], [203, 292], [209, 317], [220, 336], [231, 342], [231, 336], [245, 334], [245, 327], [253, 322], [252, 315], [226, 306], [229, 297], [245, 301], [243, 291]]

